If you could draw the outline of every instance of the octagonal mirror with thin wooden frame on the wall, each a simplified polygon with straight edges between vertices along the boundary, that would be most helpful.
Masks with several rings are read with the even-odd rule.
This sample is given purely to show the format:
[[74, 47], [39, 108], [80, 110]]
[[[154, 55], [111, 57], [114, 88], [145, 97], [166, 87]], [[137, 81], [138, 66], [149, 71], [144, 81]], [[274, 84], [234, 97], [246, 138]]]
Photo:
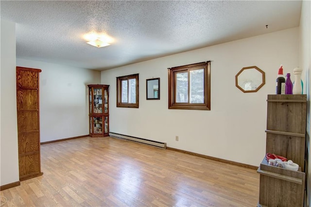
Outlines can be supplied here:
[[243, 67], [235, 76], [235, 85], [244, 93], [257, 92], [265, 84], [264, 75], [257, 66]]

